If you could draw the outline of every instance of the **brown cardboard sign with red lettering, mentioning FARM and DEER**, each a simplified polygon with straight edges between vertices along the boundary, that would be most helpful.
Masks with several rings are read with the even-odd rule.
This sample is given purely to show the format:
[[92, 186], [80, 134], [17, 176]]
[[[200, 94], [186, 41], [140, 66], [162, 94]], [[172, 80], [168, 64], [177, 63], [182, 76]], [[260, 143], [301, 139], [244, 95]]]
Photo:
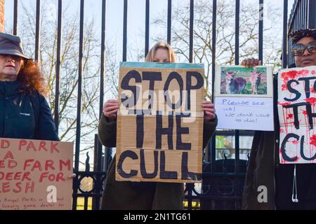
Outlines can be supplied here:
[[73, 143], [0, 139], [0, 210], [72, 209]]

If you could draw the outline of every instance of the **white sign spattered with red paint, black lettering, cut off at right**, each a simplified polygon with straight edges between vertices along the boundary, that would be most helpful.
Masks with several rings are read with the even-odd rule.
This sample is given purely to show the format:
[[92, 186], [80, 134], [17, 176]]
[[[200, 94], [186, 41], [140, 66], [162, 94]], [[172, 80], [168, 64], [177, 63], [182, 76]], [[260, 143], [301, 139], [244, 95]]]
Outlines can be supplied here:
[[316, 66], [281, 70], [278, 92], [280, 162], [316, 163]]

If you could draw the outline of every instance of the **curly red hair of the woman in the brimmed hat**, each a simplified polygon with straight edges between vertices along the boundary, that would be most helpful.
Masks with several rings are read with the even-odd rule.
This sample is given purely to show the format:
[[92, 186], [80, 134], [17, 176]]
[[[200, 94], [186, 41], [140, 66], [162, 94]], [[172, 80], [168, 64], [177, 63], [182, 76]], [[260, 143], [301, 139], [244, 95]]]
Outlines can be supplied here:
[[28, 94], [32, 93], [32, 89], [39, 91], [44, 96], [48, 93], [44, 75], [41, 73], [37, 62], [34, 62], [32, 59], [22, 60], [18, 81], [22, 83], [23, 90]]

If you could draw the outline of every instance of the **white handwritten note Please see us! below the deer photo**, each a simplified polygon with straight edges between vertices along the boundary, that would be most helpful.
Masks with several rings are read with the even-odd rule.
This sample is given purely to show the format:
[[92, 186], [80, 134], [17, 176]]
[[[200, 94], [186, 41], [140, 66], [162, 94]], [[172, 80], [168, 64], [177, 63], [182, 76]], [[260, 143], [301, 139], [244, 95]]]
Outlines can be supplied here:
[[216, 97], [218, 129], [271, 131], [273, 127], [273, 99], [251, 97]]

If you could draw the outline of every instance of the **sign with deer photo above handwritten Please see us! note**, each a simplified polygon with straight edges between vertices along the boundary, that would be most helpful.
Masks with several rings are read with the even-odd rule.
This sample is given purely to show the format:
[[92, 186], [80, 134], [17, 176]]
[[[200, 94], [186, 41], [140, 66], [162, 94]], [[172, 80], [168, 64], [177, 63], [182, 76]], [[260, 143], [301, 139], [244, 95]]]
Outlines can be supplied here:
[[274, 130], [272, 68], [216, 66], [218, 129]]

